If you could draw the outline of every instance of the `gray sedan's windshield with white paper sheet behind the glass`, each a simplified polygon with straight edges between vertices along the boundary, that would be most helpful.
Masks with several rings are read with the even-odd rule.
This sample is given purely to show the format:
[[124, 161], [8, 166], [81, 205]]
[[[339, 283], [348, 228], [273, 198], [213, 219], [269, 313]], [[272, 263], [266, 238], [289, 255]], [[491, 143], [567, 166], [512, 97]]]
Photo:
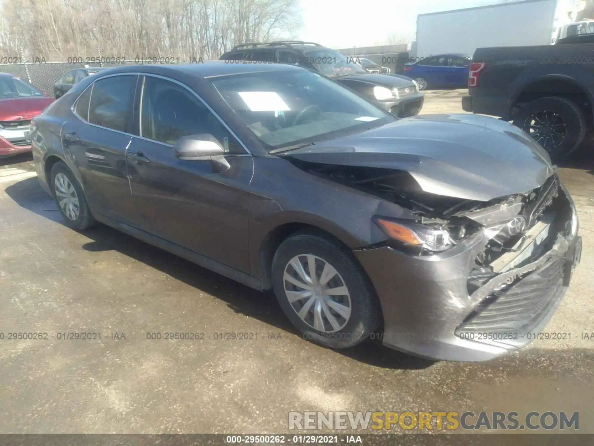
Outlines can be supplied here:
[[209, 80], [269, 151], [358, 133], [395, 120], [345, 87], [308, 70]]

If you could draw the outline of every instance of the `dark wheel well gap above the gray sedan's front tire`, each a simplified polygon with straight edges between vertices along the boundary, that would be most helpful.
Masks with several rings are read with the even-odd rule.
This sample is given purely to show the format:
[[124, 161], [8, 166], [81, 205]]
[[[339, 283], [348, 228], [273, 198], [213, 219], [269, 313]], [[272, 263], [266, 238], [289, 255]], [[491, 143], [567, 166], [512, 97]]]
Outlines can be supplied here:
[[322, 235], [323, 237], [331, 238], [338, 243], [344, 244], [339, 238], [330, 234], [328, 231], [307, 223], [287, 223], [274, 228], [266, 235], [266, 237], [264, 237], [264, 241], [260, 246], [259, 265], [262, 287], [264, 290], [270, 290], [270, 288], [272, 288], [272, 260], [276, 250], [279, 249], [280, 244], [291, 235], [302, 231]]

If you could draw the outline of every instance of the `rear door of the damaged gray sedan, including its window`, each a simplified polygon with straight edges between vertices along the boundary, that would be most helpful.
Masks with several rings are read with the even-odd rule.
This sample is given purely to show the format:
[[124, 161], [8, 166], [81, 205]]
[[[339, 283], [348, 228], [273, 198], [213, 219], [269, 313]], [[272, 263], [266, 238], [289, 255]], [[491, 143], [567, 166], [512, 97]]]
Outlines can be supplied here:
[[138, 76], [97, 80], [74, 103], [77, 118], [61, 131], [62, 145], [81, 174], [91, 211], [131, 222], [126, 150], [132, 142], [132, 106]]

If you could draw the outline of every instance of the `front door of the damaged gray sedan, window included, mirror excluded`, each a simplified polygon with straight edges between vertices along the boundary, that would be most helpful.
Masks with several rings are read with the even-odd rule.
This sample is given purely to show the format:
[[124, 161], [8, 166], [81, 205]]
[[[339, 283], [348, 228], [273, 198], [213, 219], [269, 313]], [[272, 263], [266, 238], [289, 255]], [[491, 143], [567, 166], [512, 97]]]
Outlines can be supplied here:
[[[253, 163], [227, 128], [185, 86], [144, 78], [140, 136], [127, 152], [135, 225], [239, 271], [249, 272], [248, 192]], [[175, 157], [182, 136], [209, 133], [231, 168]]]

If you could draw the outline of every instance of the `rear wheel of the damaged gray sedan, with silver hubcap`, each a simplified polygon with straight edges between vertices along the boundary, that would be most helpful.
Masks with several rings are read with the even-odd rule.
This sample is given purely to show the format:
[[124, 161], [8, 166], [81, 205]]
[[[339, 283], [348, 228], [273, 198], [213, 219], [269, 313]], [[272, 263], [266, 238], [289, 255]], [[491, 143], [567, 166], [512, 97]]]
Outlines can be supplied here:
[[75, 230], [83, 230], [95, 224], [83, 189], [70, 169], [59, 161], [52, 167], [50, 187], [53, 197], [64, 218], [64, 224]]

